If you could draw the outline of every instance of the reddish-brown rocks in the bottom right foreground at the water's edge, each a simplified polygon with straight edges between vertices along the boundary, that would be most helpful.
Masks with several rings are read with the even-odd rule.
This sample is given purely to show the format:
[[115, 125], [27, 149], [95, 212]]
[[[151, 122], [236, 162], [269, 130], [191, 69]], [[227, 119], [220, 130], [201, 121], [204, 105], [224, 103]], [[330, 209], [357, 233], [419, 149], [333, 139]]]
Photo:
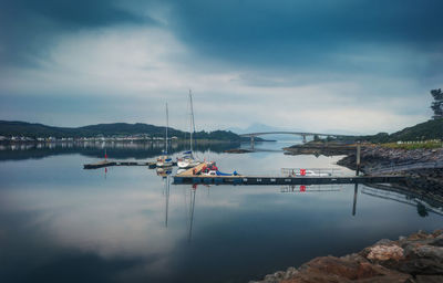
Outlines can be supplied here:
[[359, 253], [316, 258], [250, 283], [441, 283], [443, 230], [380, 240]]

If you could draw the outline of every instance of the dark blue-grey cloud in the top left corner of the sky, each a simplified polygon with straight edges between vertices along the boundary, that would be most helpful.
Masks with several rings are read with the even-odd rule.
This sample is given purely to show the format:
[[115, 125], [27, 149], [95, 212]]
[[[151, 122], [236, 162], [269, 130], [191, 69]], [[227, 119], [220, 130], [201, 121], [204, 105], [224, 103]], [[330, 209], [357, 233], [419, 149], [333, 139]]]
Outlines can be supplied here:
[[34, 65], [60, 36], [117, 24], [156, 24], [147, 15], [127, 11], [116, 1], [0, 1], [0, 62]]

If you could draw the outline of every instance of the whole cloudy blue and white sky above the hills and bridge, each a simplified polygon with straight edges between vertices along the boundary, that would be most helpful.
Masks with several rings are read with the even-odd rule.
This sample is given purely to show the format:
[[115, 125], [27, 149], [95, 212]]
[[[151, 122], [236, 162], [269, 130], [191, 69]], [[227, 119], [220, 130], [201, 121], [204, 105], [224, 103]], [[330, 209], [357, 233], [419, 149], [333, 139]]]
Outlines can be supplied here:
[[0, 119], [374, 134], [431, 118], [441, 0], [0, 0]]

